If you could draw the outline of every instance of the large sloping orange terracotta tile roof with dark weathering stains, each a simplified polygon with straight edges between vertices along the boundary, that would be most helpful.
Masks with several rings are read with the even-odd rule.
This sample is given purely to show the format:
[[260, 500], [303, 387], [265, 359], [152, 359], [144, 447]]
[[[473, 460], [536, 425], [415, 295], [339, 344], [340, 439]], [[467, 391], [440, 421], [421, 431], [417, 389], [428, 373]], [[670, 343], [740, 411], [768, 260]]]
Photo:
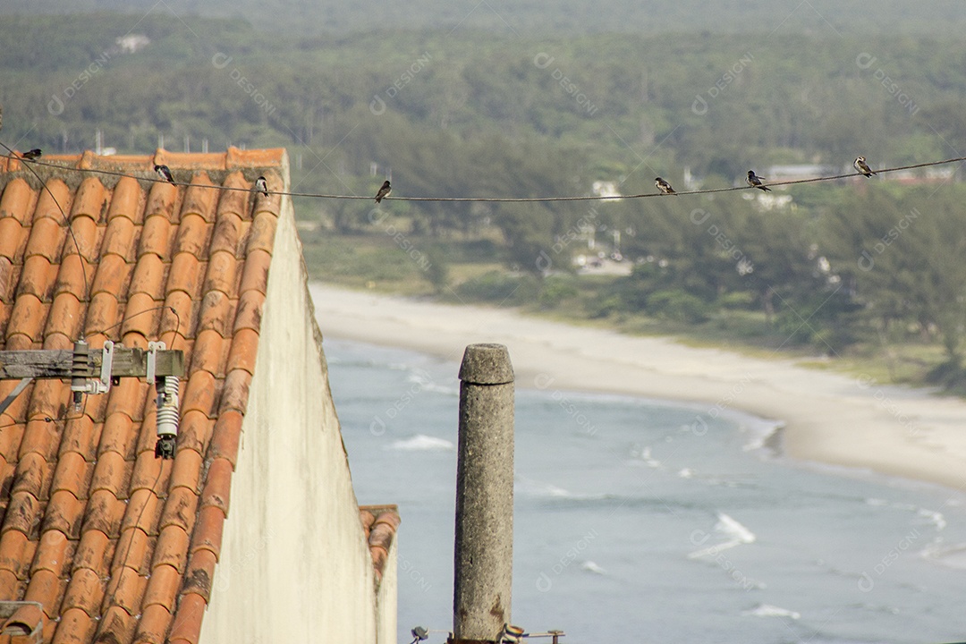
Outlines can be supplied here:
[[[164, 340], [185, 350], [188, 373], [174, 462], [154, 458], [155, 391], [136, 378], [85, 396], [80, 412], [69, 383], [39, 380], [7, 409], [0, 597], [42, 602], [44, 641], [196, 643], [282, 211], [250, 188], [264, 174], [284, 189], [284, 151], [44, 159], [140, 177], [165, 163], [191, 185], [50, 176], [47, 192], [5, 161], [0, 350], [71, 350], [81, 334], [94, 348]], [[0, 382], [0, 398], [15, 384]]]

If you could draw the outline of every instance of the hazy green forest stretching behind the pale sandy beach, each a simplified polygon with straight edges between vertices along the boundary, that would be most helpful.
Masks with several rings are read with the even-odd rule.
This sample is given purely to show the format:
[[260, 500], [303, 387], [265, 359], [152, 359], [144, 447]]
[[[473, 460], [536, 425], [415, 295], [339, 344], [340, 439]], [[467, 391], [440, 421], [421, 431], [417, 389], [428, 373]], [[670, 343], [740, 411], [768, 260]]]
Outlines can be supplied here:
[[[391, 175], [409, 197], [587, 196], [594, 182], [629, 195], [654, 192], [656, 176], [726, 187], [776, 165], [850, 172], [858, 154], [881, 169], [966, 155], [966, 42], [943, 15], [919, 15], [915, 37], [814, 16], [792, 33], [736, 33], [738, 21], [628, 33], [588, 18], [556, 35], [380, 20], [282, 37], [238, 16], [8, 14], [0, 140], [45, 153], [98, 136], [119, 153], [162, 139], [285, 147], [294, 191], [375, 194]], [[861, 22], [850, 16], [838, 18]], [[378, 210], [300, 197], [296, 210], [317, 277], [966, 391], [960, 165], [776, 188], [790, 197], [776, 202], [749, 189]], [[573, 261], [597, 253], [619, 270]]]

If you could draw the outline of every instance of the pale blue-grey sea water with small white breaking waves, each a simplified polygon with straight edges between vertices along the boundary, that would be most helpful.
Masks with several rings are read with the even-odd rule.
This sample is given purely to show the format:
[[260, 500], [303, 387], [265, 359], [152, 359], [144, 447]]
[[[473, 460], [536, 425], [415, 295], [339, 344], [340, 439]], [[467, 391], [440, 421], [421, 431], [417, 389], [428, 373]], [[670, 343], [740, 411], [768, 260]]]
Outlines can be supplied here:
[[[443, 642], [459, 365], [325, 347], [359, 503], [403, 518], [399, 641]], [[514, 623], [570, 644], [966, 640], [962, 490], [793, 462], [769, 423], [701, 411], [517, 389]]]

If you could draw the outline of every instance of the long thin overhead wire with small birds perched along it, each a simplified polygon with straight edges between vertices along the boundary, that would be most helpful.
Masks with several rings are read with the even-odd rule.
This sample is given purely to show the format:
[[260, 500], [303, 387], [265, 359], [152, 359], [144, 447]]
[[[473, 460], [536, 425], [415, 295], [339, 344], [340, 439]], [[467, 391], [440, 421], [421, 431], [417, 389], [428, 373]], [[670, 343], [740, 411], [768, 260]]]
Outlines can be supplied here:
[[[0, 142], [4, 148], [8, 151], [11, 149]], [[77, 168], [69, 165], [60, 165], [57, 163], [50, 163], [49, 161], [40, 161], [36, 159], [26, 159], [20, 156], [14, 156], [13, 151], [8, 154], [10, 158], [15, 158], [16, 160], [23, 163], [30, 163], [33, 165], [46, 166], [49, 168], [56, 168], [58, 170], [79, 172], [79, 173], [94, 173], [100, 175], [108, 175], [112, 177], [127, 177], [129, 179], [135, 179], [137, 181], [143, 182], [154, 182], [154, 183], [174, 183], [175, 185], [184, 186], [194, 186], [199, 188], [210, 188], [214, 190], [224, 190], [224, 191], [238, 191], [238, 192], [251, 192], [252, 188], [241, 188], [231, 185], [205, 185], [201, 183], [187, 183], [187, 182], [168, 182], [156, 177], [154, 172], [151, 174], [145, 174], [144, 176], [130, 175], [124, 172], [118, 172], [114, 170], [102, 170], [99, 168]], [[914, 170], [916, 168], [925, 168], [936, 165], [947, 165], [950, 163], [956, 163], [959, 161], [966, 161], [966, 156], [957, 156], [955, 158], [949, 158], [943, 161], [927, 161], [925, 163], [915, 163], [913, 165], [902, 165], [896, 166], [895, 168], [882, 168], [875, 170], [876, 174], [886, 174], [890, 172], [900, 172], [902, 170]], [[35, 175], [37, 173], [34, 173]], [[776, 186], [776, 185], [796, 185], [799, 183], [814, 183], [814, 182], [831, 182], [838, 181], [840, 179], [848, 179], [850, 177], [861, 177], [858, 172], [846, 173], [843, 175], [831, 175], [828, 177], [812, 177], [810, 179], [795, 179], [784, 182], [762, 182], [763, 186]], [[755, 189], [751, 185], [735, 185], [726, 188], [708, 188], [705, 190], [684, 190], [677, 191], [674, 195], [665, 195], [661, 192], [645, 192], [641, 194], [633, 195], [608, 195], [608, 196], [580, 196], [580, 197], [400, 197], [400, 196], [390, 196], [385, 197], [388, 201], [414, 201], [414, 202], [483, 202], [483, 203], [547, 203], [547, 202], [567, 202], [567, 201], [612, 201], [619, 199], [643, 199], [647, 197], [664, 197], [664, 196], [685, 196], [685, 195], [696, 195], [696, 194], [713, 194], [717, 192], [733, 192], [735, 190], [753, 190]], [[272, 195], [284, 195], [288, 197], [310, 197], [314, 199], [361, 199], [361, 200], [371, 200], [373, 197], [369, 195], [341, 195], [341, 194], [326, 194], [326, 193], [316, 193], [316, 192], [282, 192], [270, 190]]]

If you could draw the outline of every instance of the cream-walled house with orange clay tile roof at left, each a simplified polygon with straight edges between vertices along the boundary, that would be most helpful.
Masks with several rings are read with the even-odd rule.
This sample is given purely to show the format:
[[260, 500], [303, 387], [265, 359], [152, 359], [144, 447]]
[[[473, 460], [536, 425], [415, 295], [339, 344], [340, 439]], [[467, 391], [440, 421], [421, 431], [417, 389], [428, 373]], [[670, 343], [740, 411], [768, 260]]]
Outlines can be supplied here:
[[0, 158], [0, 350], [163, 341], [185, 376], [173, 460], [143, 379], [0, 415], [0, 640], [395, 642], [399, 516], [356, 504], [285, 151], [28, 162]]

